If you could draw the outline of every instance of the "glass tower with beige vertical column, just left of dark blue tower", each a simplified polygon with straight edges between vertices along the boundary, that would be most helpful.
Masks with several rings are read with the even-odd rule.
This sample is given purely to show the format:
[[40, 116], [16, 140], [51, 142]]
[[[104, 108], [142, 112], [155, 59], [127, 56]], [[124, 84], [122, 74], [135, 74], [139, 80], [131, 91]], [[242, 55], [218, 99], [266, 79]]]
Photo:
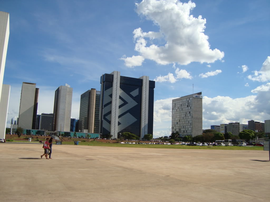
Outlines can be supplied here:
[[87, 133], [99, 133], [100, 91], [94, 88], [81, 95], [79, 130]]

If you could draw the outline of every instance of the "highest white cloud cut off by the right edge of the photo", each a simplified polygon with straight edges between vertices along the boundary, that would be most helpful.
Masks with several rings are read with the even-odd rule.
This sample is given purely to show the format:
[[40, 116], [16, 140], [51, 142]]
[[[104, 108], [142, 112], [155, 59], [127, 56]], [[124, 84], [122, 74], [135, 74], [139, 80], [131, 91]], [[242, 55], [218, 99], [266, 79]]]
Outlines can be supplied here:
[[248, 75], [248, 78], [252, 81], [265, 82], [270, 80], [270, 56], [266, 58], [262, 64], [260, 71], [254, 71], [254, 75]]

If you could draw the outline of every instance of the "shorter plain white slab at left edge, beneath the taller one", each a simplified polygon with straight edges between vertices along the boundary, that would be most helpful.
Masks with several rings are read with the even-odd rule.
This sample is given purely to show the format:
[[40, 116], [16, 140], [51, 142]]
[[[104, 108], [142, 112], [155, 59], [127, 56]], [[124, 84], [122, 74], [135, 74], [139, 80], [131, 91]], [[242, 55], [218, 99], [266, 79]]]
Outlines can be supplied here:
[[5, 139], [6, 134], [6, 118], [8, 116], [10, 85], [2, 85], [2, 95], [0, 100], [0, 138]]

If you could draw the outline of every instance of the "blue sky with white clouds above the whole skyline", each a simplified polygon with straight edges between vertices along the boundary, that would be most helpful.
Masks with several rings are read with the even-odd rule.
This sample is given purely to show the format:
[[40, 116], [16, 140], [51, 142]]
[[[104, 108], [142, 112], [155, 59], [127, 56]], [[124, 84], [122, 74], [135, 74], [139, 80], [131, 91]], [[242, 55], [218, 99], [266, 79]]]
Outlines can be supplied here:
[[[183, 3], [183, 4], [182, 4]], [[37, 83], [39, 113], [53, 112], [54, 91], [100, 89], [100, 76], [156, 81], [154, 137], [171, 131], [171, 100], [203, 92], [203, 128], [270, 119], [270, 1], [4, 1], [10, 35], [4, 84], [8, 121], [22, 82]]]

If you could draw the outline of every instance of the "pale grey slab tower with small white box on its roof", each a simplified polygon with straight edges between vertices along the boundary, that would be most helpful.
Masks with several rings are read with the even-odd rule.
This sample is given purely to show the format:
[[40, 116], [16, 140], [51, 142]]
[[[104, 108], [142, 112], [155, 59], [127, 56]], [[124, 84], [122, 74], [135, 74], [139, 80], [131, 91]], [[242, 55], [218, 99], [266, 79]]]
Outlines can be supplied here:
[[73, 88], [59, 86], [55, 91], [53, 107], [53, 131], [70, 131]]

